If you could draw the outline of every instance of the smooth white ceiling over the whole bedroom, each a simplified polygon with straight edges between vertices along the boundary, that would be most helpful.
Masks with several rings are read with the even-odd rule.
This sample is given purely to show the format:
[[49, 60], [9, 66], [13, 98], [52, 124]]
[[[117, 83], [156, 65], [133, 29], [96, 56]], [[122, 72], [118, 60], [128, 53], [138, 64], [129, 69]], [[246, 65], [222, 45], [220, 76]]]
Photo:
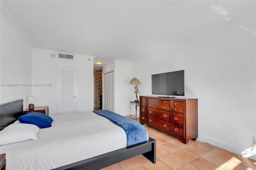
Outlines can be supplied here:
[[[35, 48], [133, 61], [255, 13], [252, 1], [3, 1]], [[97, 68], [96, 68], [97, 69]]]

